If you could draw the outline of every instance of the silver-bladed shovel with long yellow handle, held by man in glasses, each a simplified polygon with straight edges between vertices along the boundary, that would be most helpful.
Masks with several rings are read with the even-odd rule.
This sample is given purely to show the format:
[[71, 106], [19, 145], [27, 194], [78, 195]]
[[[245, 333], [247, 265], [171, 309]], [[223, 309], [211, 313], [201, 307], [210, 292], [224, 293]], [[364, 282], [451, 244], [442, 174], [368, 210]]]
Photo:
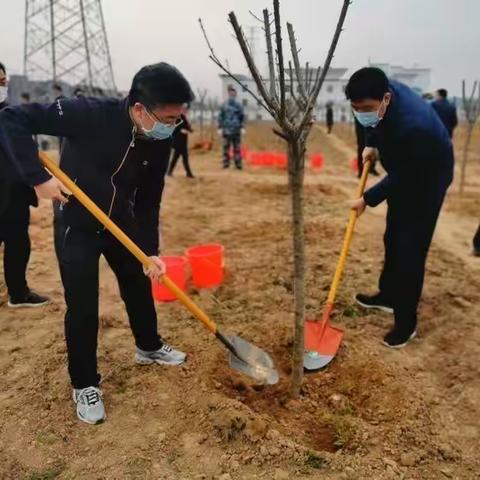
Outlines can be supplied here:
[[[39, 152], [44, 167], [50, 171], [77, 200], [127, 248], [145, 267], [151, 265], [150, 258], [124, 233], [97, 205], [43, 152]], [[273, 385], [278, 382], [278, 372], [270, 356], [260, 348], [238, 336], [227, 337], [217, 325], [204, 313], [177, 285], [166, 275], [163, 284], [178, 300], [213, 333], [229, 351], [230, 367], [258, 382]]]

